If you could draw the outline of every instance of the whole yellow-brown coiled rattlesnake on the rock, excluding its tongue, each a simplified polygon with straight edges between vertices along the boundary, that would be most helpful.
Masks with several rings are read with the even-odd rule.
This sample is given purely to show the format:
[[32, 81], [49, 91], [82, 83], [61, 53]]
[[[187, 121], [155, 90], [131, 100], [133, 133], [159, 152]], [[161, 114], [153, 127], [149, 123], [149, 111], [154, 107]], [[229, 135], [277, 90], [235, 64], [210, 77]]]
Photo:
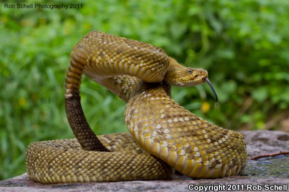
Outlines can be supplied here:
[[[65, 107], [76, 139], [31, 143], [30, 179], [41, 183], [170, 179], [174, 169], [195, 178], [237, 175], [246, 166], [243, 136], [219, 128], [170, 98], [170, 85], [204, 82], [207, 72], [177, 64], [157, 47], [88, 33], [73, 49]], [[81, 75], [126, 103], [129, 133], [96, 136], [80, 105]]]

